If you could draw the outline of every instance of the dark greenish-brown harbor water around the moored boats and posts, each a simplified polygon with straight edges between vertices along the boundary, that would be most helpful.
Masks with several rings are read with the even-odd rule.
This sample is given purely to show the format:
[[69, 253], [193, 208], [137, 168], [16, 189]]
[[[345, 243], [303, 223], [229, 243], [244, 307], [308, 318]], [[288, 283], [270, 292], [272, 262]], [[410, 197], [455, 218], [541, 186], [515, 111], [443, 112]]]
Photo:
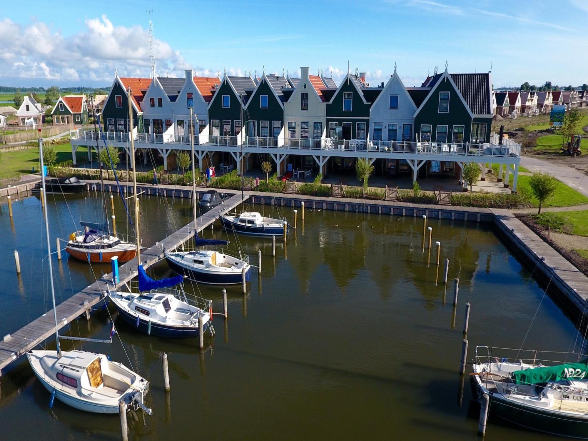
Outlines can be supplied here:
[[[51, 243], [68, 238], [79, 220], [96, 220], [99, 195], [48, 195]], [[132, 235], [115, 196], [117, 230]], [[109, 201], [107, 202], [109, 207]], [[189, 200], [141, 198], [142, 245], [151, 246], [191, 221]], [[48, 265], [41, 203], [31, 196], [0, 206], [0, 335], [14, 332], [49, 310]], [[266, 216], [290, 208], [249, 205]], [[239, 208], [240, 209], [240, 208]], [[100, 219], [98, 219], [100, 220]], [[214, 317], [216, 336], [170, 340], [143, 335], [116, 320], [99, 303], [91, 320], [79, 318], [64, 335], [108, 338], [111, 315], [118, 335], [111, 345], [83, 343], [132, 365], [150, 382], [152, 416], [129, 415], [129, 439], [477, 439], [477, 407], [467, 375], [459, 375], [463, 316], [472, 305], [469, 355], [476, 345], [566, 351], [577, 337], [533, 268], [517, 260], [491, 225], [428, 219], [432, 227], [423, 250], [423, 219], [298, 209], [288, 242], [235, 236], [220, 226], [205, 238], [227, 238], [257, 264], [247, 294], [226, 287], [229, 319]], [[441, 265], [436, 265], [436, 241]], [[55, 245], [54, 245], [55, 247]], [[20, 255], [16, 275], [13, 250]], [[52, 249], [55, 252], [55, 248]], [[68, 258], [54, 262], [57, 302], [94, 282], [109, 265], [89, 266]], [[448, 285], [443, 260], [449, 258]], [[151, 275], [171, 275], [165, 262]], [[459, 277], [457, 308], [453, 279]], [[212, 299], [222, 311], [222, 286], [186, 283], [186, 291]], [[455, 318], [454, 318], [455, 315]], [[54, 345], [52, 340], [48, 346]], [[64, 340], [62, 347], [80, 347]], [[169, 359], [171, 392], [163, 389], [161, 354]], [[471, 372], [468, 367], [467, 372]], [[463, 392], [463, 396], [462, 396]], [[49, 393], [26, 358], [0, 377], [3, 440], [120, 439], [118, 416], [93, 415], [60, 402], [49, 409]], [[546, 440], [490, 419], [487, 440]]]

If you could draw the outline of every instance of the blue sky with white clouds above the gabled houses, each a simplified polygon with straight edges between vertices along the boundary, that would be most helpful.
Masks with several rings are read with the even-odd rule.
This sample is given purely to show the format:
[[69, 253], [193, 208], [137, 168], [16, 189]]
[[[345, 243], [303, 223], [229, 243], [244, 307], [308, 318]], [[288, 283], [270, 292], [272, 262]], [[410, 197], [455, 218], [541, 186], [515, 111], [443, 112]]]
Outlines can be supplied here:
[[27, 0], [0, 8], [1, 86], [109, 86], [149, 76], [222, 77], [300, 66], [349, 69], [406, 86], [442, 72], [488, 72], [495, 88], [588, 82], [588, 0]]

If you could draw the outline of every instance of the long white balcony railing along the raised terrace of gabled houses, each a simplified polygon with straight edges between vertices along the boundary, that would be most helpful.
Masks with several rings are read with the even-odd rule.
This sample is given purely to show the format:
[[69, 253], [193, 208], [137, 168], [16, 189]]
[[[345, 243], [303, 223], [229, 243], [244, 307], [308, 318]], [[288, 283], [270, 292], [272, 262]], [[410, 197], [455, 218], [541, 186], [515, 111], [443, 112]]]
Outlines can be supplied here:
[[[129, 142], [129, 133], [104, 133], [106, 142]], [[71, 131], [72, 139], [86, 139], [95, 141], [95, 132]], [[208, 147], [243, 147], [262, 149], [296, 149], [317, 152], [389, 152], [415, 153], [438, 155], [467, 155], [467, 156], [515, 156], [519, 157], [520, 144], [503, 139], [499, 144], [499, 136], [492, 133], [490, 142], [485, 143], [456, 143], [456, 142], [426, 142], [426, 141], [370, 141], [366, 139], [302, 139], [302, 138], [269, 138], [267, 136], [208, 136]], [[135, 135], [135, 142], [148, 144], [189, 145], [190, 135], [165, 135], [163, 133], [139, 133]], [[194, 139], [199, 145], [198, 136]]]

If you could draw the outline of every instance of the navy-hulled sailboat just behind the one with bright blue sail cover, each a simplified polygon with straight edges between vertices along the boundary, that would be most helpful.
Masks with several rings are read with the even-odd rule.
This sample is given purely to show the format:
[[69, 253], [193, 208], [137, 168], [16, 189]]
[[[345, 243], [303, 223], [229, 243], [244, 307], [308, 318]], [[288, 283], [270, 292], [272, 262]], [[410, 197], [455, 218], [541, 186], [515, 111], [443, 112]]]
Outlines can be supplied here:
[[[194, 133], [193, 133], [192, 107], [190, 108], [190, 128], [192, 132], [192, 215], [194, 222], [194, 238], [196, 248], [205, 245], [226, 245], [226, 240], [202, 239], [196, 232], [196, 181], [195, 181], [195, 158], [194, 158]], [[189, 279], [200, 283], [212, 285], [232, 285], [241, 283], [242, 273], [245, 271], [245, 278], [249, 280], [250, 269], [249, 256], [245, 259], [236, 258], [226, 252], [215, 250], [196, 251], [173, 251], [164, 250], [165, 259], [168, 265], [176, 273], [188, 276]]]

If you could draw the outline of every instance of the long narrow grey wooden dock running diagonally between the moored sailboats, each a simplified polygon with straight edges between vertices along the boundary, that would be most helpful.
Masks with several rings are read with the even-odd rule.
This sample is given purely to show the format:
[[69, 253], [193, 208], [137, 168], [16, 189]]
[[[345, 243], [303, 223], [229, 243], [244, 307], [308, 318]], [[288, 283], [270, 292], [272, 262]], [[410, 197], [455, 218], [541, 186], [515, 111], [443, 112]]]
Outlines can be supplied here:
[[[244, 196], [245, 200], [248, 198], [248, 195]], [[198, 231], [205, 229], [207, 226], [211, 225], [211, 223], [215, 222], [221, 214], [234, 209], [240, 203], [240, 194], [231, 196], [218, 207], [199, 216], [199, 218], [196, 219], [196, 229]], [[153, 245], [151, 248], [143, 250], [141, 252], [143, 268], [146, 269], [163, 259], [162, 249], [173, 250], [178, 248], [178, 246], [182, 245], [186, 240], [192, 238], [193, 235], [194, 225], [193, 222], [191, 222], [161, 240], [161, 242]], [[123, 283], [128, 282], [136, 275], [137, 259], [135, 258], [119, 267], [119, 283], [117, 286], [121, 286]], [[97, 280], [90, 286], [86, 286], [86, 288], [65, 300], [65, 302], [60, 303], [57, 306], [58, 328], [61, 329], [68, 325], [69, 322], [72, 322], [89, 310], [93, 305], [100, 302], [108, 283], [112, 285], [112, 273], [105, 274], [100, 280]], [[45, 339], [54, 335], [54, 333], [55, 323], [53, 311], [49, 310], [23, 328], [4, 336], [2, 342], [0, 342], [0, 373], [2, 372], [2, 369], [18, 359], [21, 355], [24, 355], [27, 350], [34, 348]]]

